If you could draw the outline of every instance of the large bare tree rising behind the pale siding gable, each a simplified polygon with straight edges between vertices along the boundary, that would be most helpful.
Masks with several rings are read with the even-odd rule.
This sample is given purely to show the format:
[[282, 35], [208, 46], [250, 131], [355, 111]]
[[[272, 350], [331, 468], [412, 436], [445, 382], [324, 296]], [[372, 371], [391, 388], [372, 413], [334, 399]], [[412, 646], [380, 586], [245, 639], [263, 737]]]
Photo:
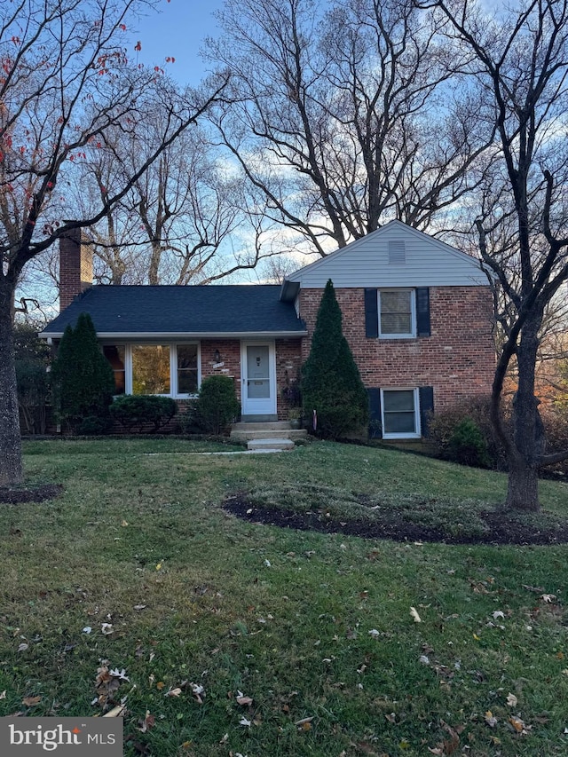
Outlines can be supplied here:
[[210, 116], [270, 218], [320, 255], [392, 217], [426, 228], [483, 181], [493, 125], [413, 0], [229, 0], [219, 20], [232, 102]]

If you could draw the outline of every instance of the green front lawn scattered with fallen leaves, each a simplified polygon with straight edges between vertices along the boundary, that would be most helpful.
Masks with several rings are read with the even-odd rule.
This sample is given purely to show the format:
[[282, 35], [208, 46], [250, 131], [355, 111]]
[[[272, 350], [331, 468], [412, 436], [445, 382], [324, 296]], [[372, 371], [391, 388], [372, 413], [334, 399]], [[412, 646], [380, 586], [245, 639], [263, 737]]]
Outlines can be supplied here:
[[[505, 477], [331, 443], [186, 453], [210, 449], [25, 445], [28, 482], [65, 489], [0, 509], [0, 714], [126, 698], [125, 754], [155, 757], [568, 753], [567, 547], [369, 541], [221, 509], [311, 484], [342, 516], [357, 493], [408, 513], [439, 500], [451, 519], [498, 505]], [[551, 516], [567, 495], [542, 482]]]

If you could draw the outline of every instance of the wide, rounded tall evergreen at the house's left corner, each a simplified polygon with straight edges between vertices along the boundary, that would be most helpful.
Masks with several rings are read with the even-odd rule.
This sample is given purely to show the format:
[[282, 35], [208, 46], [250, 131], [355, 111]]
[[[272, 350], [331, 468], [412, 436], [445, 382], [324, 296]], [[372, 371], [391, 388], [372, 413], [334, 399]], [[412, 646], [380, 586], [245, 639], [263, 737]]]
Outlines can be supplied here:
[[59, 421], [75, 433], [105, 431], [113, 401], [113, 369], [100, 351], [97, 332], [88, 313], [75, 328], [67, 326], [51, 366], [51, 386]]

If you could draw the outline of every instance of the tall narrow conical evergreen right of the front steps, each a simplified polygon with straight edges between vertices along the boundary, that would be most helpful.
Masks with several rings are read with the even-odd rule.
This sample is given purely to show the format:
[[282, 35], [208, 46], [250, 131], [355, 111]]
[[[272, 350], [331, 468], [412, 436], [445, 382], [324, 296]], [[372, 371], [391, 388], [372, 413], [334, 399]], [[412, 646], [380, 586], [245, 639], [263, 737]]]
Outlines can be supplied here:
[[316, 411], [319, 435], [338, 438], [367, 425], [367, 390], [343, 336], [341, 309], [331, 280], [319, 304], [301, 388], [304, 415], [312, 422]]

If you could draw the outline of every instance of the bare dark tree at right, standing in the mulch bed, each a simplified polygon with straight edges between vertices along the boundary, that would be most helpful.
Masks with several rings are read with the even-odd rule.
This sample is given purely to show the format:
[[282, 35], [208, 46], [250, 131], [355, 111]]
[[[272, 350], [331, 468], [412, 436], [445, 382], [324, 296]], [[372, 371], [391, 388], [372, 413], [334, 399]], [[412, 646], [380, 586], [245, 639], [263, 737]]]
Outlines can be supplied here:
[[[503, 334], [492, 415], [509, 459], [507, 507], [537, 510], [539, 470], [568, 457], [568, 451], [546, 453], [535, 397], [545, 314], [568, 279], [568, 3], [528, 0], [492, 15], [475, 0], [435, 5], [447, 34], [473, 55], [471, 74], [493, 107], [493, 149], [503, 184], [499, 193], [485, 196], [476, 224]], [[518, 385], [509, 438], [501, 420], [501, 392], [512, 360]]]

